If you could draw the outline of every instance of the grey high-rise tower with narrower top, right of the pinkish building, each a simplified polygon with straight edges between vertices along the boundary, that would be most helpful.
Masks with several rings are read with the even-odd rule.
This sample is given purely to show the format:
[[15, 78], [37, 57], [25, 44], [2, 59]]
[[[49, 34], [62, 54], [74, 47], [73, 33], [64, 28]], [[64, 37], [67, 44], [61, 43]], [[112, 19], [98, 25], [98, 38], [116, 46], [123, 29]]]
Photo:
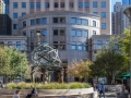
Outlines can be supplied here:
[[123, 12], [122, 12], [122, 5], [121, 2], [116, 2], [116, 4], [114, 5], [114, 12], [111, 13], [111, 28], [112, 35], [121, 35], [123, 33]]

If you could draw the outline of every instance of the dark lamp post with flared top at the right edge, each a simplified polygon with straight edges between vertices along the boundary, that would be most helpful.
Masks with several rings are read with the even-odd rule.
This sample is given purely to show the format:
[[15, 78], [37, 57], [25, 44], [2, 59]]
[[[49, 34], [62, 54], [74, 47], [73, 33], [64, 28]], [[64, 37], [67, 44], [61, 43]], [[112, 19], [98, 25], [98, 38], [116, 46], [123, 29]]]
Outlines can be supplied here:
[[[130, 89], [131, 89], [131, 7], [127, 8], [123, 13], [128, 16], [130, 22]], [[131, 98], [131, 90], [130, 90], [130, 98]]]

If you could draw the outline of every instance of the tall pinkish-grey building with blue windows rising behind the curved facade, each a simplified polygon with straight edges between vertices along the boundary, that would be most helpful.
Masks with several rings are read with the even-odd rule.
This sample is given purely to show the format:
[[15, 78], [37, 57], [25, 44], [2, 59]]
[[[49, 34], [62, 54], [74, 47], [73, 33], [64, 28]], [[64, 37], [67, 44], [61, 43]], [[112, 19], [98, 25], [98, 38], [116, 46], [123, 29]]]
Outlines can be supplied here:
[[10, 0], [9, 15], [12, 19], [12, 33], [17, 35], [17, 17], [43, 11], [73, 11], [83, 13], [94, 13], [100, 19], [100, 34], [111, 34], [111, 0]]

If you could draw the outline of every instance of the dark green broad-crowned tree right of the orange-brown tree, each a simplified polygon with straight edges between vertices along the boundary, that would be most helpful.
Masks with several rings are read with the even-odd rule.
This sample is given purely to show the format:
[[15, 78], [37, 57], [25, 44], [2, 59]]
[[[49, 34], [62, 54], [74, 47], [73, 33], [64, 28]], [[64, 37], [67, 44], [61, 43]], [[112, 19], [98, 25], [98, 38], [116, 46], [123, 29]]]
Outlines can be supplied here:
[[111, 38], [107, 48], [98, 51], [96, 60], [91, 65], [93, 76], [104, 76], [110, 84], [112, 78], [127, 71], [124, 54], [118, 49], [117, 38]]

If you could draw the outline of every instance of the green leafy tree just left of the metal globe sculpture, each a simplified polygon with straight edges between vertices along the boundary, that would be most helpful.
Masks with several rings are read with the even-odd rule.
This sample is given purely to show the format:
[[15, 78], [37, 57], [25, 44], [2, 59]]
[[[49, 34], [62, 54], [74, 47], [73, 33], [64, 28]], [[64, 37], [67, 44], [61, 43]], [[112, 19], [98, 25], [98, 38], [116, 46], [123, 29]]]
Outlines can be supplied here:
[[11, 76], [16, 77], [21, 75], [26, 77], [28, 71], [28, 61], [25, 53], [19, 52], [16, 49], [4, 48], [9, 57]]

